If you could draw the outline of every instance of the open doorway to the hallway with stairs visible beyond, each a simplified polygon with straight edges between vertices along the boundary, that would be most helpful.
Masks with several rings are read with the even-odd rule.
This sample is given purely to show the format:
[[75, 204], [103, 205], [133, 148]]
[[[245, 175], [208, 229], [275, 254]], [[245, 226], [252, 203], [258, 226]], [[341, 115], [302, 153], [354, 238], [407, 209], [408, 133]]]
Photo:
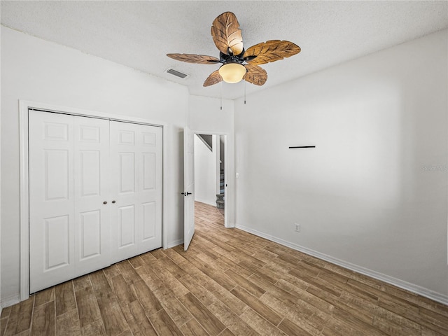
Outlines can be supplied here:
[[[225, 194], [227, 188], [225, 134], [199, 133], [194, 136], [195, 146], [195, 210], [207, 209], [222, 216], [227, 227]], [[205, 214], [204, 214], [205, 216]], [[195, 216], [200, 218], [199, 214]], [[222, 219], [222, 220], [221, 220]]]

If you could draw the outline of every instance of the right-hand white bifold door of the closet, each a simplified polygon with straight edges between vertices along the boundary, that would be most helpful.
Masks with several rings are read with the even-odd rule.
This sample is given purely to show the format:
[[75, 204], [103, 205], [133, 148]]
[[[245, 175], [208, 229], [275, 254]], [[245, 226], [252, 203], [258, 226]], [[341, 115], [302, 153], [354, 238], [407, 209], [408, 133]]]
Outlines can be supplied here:
[[162, 129], [111, 121], [113, 260], [162, 246]]

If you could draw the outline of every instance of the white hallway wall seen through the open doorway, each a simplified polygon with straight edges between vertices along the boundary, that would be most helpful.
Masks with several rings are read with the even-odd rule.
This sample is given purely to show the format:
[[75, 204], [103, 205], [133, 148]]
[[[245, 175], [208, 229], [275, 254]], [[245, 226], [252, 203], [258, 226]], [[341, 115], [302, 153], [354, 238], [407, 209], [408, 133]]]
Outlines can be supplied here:
[[195, 134], [195, 201], [216, 207], [216, 135], [213, 150]]

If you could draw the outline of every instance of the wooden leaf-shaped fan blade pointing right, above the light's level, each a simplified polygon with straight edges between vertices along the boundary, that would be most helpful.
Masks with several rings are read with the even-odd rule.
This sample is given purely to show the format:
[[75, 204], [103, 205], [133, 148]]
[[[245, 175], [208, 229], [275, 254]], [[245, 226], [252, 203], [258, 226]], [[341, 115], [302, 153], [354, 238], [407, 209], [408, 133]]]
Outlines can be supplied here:
[[272, 40], [251, 46], [244, 52], [243, 58], [250, 64], [265, 64], [293, 56], [300, 47], [290, 41]]

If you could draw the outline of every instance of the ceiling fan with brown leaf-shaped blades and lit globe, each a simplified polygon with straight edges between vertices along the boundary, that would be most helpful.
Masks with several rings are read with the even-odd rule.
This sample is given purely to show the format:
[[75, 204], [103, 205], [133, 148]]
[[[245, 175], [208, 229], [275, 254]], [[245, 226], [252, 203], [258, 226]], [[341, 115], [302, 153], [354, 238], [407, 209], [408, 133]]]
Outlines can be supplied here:
[[223, 65], [212, 72], [204, 86], [214, 85], [224, 80], [238, 83], [244, 79], [255, 85], [263, 85], [267, 73], [258, 64], [278, 61], [300, 52], [300, 47], [290, 41], [271, 40], [255, 44], [244, 50], [243, 38], [237, 17], [232, 12], [218, 16], [211, 25], [211, 37], [219, 50], [219, 58], [195, 54], [167, 54], [168, 57], [182, 62], [196, 64]]

